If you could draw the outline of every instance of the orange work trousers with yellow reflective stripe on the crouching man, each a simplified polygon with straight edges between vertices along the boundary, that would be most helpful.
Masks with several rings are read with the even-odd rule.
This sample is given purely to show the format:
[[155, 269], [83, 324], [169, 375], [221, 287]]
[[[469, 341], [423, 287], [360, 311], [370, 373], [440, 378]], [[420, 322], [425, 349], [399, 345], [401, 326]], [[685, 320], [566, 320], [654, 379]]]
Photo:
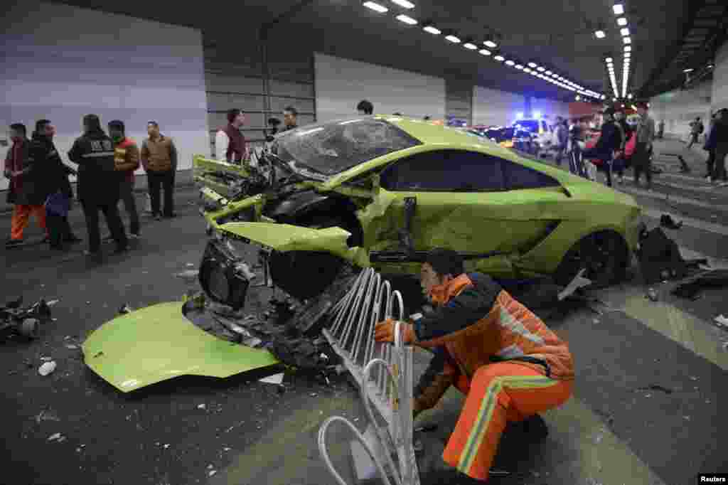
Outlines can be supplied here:
[[558, 381], [516, 363], [493, 363], [460, 376], [456, 387], [467, 394], [465, 406], [443, 453], [461, 473], [487, 480], [501, 434], [509, 421], [523, 421], [565, 403], [572, 381]]

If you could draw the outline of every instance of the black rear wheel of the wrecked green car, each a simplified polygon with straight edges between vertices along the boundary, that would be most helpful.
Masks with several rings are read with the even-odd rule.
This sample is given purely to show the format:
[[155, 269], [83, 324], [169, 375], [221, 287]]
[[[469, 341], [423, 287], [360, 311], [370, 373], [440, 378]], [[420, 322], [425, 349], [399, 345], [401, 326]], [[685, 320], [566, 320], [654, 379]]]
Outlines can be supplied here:
[[624, 280], [629, 263], [629, 249], [620, 234], [602, 231], [582, 238], [563, 257], [554, 280], [566, 286], [582, 269], [584, 277], [592, 280], [588, 288], [606, 288]]

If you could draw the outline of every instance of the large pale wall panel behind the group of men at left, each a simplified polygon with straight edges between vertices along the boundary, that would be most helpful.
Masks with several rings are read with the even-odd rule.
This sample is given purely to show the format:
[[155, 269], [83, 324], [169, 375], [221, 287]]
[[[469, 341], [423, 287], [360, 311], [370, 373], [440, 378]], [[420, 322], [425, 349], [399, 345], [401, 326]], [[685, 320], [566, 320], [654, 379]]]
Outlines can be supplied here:
[[31, 132], [36, 119], [51, 119], [64, 160], [88, 113], [104, 125], [121, 119], [138, 143], [156, 120], [174, 139], [181, 170], [210, 151], [199, 31], [33, 0], [3, 14], [3, 127], [22, 122]]

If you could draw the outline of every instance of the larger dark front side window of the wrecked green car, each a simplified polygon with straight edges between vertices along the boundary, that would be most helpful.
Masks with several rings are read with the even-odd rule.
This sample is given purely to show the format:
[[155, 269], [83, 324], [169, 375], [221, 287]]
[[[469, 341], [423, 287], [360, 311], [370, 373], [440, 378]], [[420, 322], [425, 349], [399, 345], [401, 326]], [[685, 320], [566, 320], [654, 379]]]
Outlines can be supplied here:
[[381, 187], [400, 192], [496, 192], [504, 189], [502, 160], [477, 151], [427, 151], [381, 174]]

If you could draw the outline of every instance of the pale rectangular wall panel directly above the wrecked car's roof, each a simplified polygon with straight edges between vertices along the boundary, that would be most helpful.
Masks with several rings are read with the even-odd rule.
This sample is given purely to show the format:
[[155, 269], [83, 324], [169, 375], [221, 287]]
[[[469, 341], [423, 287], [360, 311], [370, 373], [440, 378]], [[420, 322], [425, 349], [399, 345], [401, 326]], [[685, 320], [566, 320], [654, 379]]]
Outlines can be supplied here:
[[357, 114], [370, 100], [374, 114], [445, 117], [445, 80], [316, 53], [316, 119], [325, 122]]

